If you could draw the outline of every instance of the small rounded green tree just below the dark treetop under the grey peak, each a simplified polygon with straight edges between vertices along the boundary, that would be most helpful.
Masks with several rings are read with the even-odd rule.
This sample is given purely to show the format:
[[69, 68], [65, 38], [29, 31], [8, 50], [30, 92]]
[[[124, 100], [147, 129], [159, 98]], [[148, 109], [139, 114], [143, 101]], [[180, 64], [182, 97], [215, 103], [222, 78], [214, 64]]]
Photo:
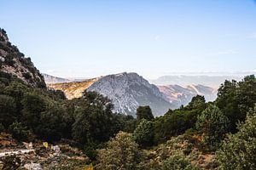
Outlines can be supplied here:
[[154, 129], [153, 123], [143, 119], [133, 133], [133, 139], [142, 147], [153, 144]]

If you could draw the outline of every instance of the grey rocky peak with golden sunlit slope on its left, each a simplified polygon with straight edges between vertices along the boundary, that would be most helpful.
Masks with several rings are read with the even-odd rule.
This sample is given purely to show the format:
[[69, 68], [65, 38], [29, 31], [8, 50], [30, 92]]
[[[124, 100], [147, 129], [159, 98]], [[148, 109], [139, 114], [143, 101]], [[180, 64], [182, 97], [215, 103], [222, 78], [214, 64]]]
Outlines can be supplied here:
[[69, 99], [82, 96], [84, 90], [96, 91], [112, 99], [114, 111], [132, 116], [135, 116], [139, 105], [149, 105], [154, 116], [163, 115], [174, 107], [159, 88], [137, 73], [124, 72], [84, 82], [49, 84], [49, 88], [61, 89]]

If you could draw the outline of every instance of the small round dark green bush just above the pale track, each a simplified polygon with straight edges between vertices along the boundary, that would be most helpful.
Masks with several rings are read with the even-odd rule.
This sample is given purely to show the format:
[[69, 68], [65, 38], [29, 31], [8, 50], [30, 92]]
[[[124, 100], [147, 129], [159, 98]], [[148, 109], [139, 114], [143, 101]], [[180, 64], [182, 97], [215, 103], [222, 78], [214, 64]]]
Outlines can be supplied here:
[[19, 141], [27, 140], [31, 136], [31, 132], [20, 122], [14, 122], [13, 124], [11, 124], [9, 126], [9, 133], [12, 134], [13, 138]]

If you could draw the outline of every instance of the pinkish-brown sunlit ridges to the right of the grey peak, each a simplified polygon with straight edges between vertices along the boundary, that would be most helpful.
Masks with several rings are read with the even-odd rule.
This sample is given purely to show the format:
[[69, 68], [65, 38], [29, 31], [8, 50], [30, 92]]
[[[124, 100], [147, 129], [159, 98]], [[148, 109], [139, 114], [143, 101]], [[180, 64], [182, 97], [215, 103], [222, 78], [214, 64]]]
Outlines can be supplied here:
[[217, 98], [217, 89], [203, 85], [179, 85], [158, 86], [160, 92], [166, 95], [169, 102], [175, 105], [188, 105], [189, 101], [196, 95], [203, 95], [207, 101]]

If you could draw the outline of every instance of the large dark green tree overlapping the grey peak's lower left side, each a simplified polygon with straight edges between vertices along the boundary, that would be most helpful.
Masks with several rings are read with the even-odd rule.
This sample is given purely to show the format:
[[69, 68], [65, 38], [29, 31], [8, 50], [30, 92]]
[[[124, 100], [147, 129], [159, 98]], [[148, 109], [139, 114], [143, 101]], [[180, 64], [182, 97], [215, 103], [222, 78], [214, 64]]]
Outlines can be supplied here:
[[108, 141], [114, 133], [113, 105], [108, 98], [86, 92], [74, 113], [73, 139], [80, 144]]

